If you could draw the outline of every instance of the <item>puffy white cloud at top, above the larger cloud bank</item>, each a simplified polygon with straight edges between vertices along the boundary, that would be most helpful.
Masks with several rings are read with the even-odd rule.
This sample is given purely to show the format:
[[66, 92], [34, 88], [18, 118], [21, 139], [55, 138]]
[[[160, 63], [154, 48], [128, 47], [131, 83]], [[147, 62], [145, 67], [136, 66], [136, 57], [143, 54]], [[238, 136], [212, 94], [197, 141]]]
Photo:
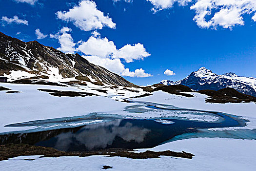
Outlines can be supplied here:
[[97, 9], [97, 5], [91, 0], [82, 0], [78, 6], [69, 11], [58, 11], [57, 18], [67, 22], [73, 22], [75, 26], [83, 31], [102, 29], [103, 26], [116, 28], [116, 23], [103, 12]]

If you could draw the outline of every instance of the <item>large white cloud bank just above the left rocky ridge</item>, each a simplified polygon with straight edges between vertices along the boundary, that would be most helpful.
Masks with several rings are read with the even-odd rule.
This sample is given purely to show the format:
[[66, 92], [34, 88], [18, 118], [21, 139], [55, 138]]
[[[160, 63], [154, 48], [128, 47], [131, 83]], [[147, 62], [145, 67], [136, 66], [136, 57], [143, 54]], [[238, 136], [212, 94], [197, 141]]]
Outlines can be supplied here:
[[[126, 44], [120, 49], [117, 49], [113, 41], [107, 38], [101, 38], [96, 31], [92, 32], [92, 36], [86, 42], [79, 41], [74, 43], [72, 36], [67, 33], [72, 31], [68, 27], [61, 28], [56, 34], [50, 34], [51, 38], [59, 40], [60, 47], [58, 50], [64, 53], [82, 52], [83, 58], [90, 63], [102, 66], [111, 72], [127, 77], [152, 77], [153, 75], [146, 73], [142, 68], [130, 71], [125, 68], [120, 59], [125, 62], [143, 59], [150, 54], [146, 52], [144, 46], [140, 43], [130, 45]], [[76, 48], [77, 47], [77, 48]]]

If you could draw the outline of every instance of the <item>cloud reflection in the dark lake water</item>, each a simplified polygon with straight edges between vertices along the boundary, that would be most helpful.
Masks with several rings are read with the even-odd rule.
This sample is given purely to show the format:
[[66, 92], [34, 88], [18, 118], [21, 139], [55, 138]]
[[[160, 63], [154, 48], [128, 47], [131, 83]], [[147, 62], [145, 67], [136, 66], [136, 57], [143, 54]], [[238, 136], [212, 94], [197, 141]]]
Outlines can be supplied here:
[[84, 145], [87, 150], [104, 149], [111, 145], [116, 137], [120, 137], [126, 142], [134, 141], [142, 143], [150, 129], [133, 126], [126, 123], [119, 126], [121, 120], [109, 123], [88, 125], [77, 132], [61, 133], [56, 136], [57, 142], [54, 148], [59, 150], [68, 150], [73, 142]]

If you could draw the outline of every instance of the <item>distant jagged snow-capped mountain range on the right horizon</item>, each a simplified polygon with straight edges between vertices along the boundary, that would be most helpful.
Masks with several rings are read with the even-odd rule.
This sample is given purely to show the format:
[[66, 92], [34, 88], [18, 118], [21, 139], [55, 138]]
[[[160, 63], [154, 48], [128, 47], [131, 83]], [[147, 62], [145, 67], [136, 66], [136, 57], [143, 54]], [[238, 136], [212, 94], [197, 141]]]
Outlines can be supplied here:
[[163, 85], [186, 85], [194, 90], [219, 90], [230, 87], [237, 91], [256, 97], [256, 78], [237, 76], [233, 72], [217, 75], [211, 70], [201, 67], [188, 77], [177, 82], [162, 80]]

